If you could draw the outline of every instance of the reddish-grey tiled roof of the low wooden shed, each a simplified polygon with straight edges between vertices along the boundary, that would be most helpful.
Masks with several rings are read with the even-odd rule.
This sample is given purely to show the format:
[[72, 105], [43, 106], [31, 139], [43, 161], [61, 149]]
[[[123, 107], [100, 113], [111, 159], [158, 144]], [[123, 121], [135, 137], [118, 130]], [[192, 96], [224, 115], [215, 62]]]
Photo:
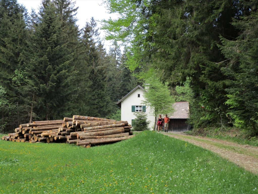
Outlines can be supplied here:
[[175, 102], [173, 105], [175, 112], [169, 114], [169, 118], [188, 119], [189, 118], [189, 102]]

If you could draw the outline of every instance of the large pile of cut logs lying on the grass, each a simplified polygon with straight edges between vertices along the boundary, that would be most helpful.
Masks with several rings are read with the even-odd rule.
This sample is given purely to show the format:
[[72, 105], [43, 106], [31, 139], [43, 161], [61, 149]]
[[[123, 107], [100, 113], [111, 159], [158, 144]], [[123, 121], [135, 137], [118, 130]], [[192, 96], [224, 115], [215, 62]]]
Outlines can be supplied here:
[[63, 120], [21, 124], [3, 140], [29, 143], [69, 143], [91, 147], [133, 137], [127, 121], [74, 115]]

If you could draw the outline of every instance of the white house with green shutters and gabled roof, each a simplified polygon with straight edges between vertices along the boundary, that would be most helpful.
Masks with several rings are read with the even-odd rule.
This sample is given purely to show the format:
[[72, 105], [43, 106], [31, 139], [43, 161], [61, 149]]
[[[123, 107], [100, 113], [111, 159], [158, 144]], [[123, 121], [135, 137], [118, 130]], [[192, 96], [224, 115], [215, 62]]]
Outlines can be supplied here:
[[144, 100], [144, 92], [146, 91], [143, 89], [143, 87], [138, 85], [116, 104], [121, 107], [121, 121], [127, 121], [128, 124], [132, 125], [135, 119], [134, 113], [146, 112], [147, 121], [150, 121], [149, 128], [153, 130], [155, 116], [150, 110], [150, 107], [142, 104], [142, 100]]

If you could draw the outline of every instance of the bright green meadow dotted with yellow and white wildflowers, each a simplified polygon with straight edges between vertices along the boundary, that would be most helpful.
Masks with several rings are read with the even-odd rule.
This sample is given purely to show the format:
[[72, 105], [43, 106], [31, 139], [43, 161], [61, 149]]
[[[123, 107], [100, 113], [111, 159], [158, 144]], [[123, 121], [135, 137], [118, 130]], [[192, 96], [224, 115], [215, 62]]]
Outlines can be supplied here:
[[257, 193], [258, 177], [210, 151], [144, 131], [116, 144], [0, 141], [1, 193]]

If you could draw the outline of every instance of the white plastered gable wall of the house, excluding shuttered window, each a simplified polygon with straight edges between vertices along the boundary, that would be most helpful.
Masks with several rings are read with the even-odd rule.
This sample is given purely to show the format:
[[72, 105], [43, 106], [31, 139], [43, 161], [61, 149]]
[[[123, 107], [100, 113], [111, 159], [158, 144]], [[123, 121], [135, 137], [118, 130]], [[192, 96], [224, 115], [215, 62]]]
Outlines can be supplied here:
[[[135, 112], [132, 112], [132, 106], [144, 106], [142, 104], [144, 91], [140, 88], [137, 88], [133, 91], [130, 95], [128, 95], [122, 102], [121, 102], [121, 120], [128, 121], [129, 124], [132, 124], [132, 119], [135, 119]], [[138, 94], [140, 97], [138, 98]], [[147, 114], [147, 121], [150, 121], [149, 128], [153, 130], [155, 117], [152, 115], [152, 111], [150, 107], [146, 106], [146, 114]]]

